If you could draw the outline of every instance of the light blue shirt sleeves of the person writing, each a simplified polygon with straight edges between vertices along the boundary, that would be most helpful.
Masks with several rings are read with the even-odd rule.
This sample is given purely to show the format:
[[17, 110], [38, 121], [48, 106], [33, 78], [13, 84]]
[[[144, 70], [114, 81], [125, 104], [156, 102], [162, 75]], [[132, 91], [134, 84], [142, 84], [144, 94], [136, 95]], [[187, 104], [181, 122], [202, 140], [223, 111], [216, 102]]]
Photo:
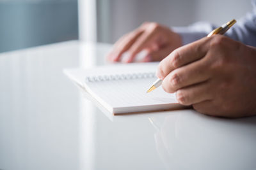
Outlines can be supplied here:
[[[252, 1], [252, 5], [253, 11], [238, 20], [225, 35], [246, 45], [256, 46], [256, 1]], [[176, 27], [173, 29], [182, 36], [183, 45], [186, 45], [197, 39], [204, 38], [213, 29], [216, 29], [216, 26], [205, 22], [197, 22], [188, 27]]]

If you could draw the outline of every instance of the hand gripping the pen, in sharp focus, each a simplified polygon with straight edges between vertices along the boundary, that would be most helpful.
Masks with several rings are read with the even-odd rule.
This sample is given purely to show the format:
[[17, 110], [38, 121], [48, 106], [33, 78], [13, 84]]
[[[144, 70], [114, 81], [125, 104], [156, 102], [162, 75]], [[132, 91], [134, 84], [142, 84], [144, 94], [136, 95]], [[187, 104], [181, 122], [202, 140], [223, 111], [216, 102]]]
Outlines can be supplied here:
[[180, 104], [218, 117], [256, 115], [256, 49], [211, 36], [174, 50], [157, 76]]

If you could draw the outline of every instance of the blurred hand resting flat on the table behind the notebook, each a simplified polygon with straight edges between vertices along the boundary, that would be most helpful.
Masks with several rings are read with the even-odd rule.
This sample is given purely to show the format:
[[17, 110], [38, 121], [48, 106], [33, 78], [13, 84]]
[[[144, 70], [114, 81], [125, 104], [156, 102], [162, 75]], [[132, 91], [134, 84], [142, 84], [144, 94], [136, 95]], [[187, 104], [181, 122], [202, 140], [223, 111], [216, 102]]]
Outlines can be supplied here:
[[141, 50], [147, 50], [144, 62], [162, 60], [181, 45], [182, 39], [179, 34], [163, 25], [146, 22], [120, 38], [108, 54], [108, 59], [113, 62], [120, 61], [122, 54], [129, 52], [129, 57], [125, 62], [132, 62], [136, 54]]

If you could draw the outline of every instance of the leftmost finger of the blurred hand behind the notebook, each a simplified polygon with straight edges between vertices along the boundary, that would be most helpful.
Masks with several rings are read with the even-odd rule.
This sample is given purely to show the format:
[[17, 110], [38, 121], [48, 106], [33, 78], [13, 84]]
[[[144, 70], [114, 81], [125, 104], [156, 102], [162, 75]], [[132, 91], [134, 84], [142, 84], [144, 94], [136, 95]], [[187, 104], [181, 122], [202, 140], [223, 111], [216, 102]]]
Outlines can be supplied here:
[[124, 36], [124, 38], [118, 40], [111, 53], [109, 53], [108, 57], [112, 61], [120, 60], [122, 54], [132, 46], [132, 44], [136, 41], [138, 37], [141, 36], [142, 33], [143, 30], [137, 29], [136, 31], [131, 32], [130, 34], [127, 34], [127, 36]]

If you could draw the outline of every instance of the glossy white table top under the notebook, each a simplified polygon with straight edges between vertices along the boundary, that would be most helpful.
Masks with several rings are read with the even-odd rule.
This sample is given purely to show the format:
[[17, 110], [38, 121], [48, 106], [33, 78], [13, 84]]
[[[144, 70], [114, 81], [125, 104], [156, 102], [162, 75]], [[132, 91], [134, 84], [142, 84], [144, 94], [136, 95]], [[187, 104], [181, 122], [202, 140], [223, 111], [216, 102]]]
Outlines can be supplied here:
[[0, 54], [0, 169], [256, 169], [256, 117], [106, 117], [63, 68], [104, 64], [108, 50], [68, 41]]

